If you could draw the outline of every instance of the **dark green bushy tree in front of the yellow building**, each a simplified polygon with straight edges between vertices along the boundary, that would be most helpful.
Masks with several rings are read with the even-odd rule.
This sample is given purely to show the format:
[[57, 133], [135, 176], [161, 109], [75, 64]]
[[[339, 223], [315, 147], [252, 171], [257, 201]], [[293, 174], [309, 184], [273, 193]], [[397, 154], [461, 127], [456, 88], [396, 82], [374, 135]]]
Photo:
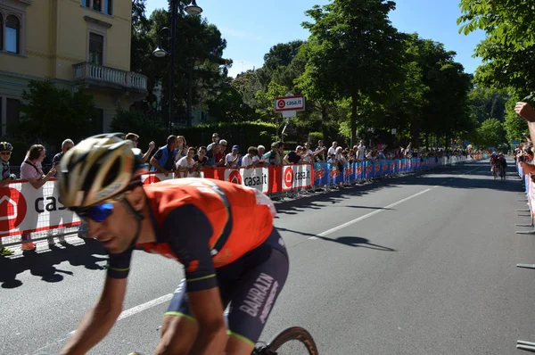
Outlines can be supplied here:
[[73, 91], [56, 87], [51, 81], [30, 81], [22, 94], [23, 116], [15, 129], [17, 134], [57, 146], [67, 137], [79, 141], [101, 133], [93, 96], [85, 87]]

